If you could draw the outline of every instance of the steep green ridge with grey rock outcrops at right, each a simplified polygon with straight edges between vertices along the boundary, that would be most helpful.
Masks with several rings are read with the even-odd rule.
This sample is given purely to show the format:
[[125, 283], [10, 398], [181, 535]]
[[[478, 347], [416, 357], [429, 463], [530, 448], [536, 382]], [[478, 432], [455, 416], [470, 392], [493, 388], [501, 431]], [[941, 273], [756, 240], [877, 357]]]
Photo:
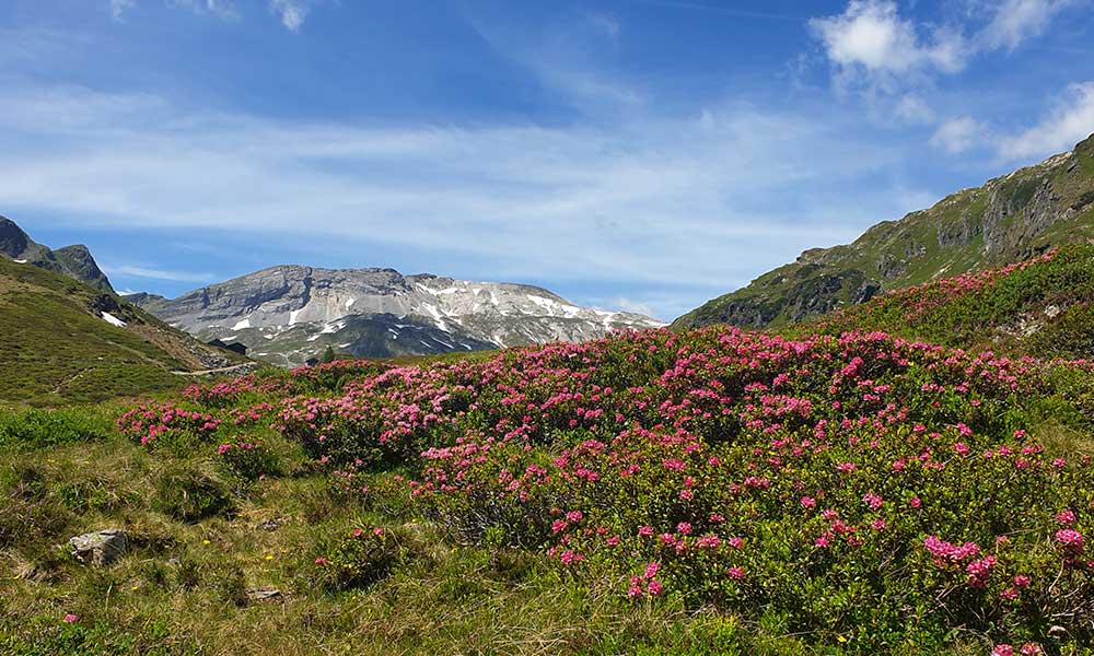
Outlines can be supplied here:
[[1094, 136], [1074, 150], [885, 221], [679, 317], [676, 327], [783, 326], [878, 293], [1094, 241]]

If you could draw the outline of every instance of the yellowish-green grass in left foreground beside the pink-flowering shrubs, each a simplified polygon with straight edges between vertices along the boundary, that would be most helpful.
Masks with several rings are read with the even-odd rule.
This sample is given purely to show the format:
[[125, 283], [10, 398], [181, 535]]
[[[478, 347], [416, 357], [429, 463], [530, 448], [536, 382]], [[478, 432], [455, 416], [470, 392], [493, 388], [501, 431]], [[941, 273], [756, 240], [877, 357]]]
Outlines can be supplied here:
[[[13, 415], [0, 423], [26, 438], [0, 443], [4, 654], [807, 653], [773, 619], [746, 629], [709, 609], [621, 604], [543, 557], [451, 543], [429, 524], [346, 503], [274, 436], [287, 475], [248, 485], [203, 452], [120, 438], [104, 429], [109, 415], [28, 410], [15, 433]], [[199, 519], [171, 512], [163, 496], [187, 477], [218, 481], [230, 505]], [[361, 526], [409, 531], [421, 558], [364, 590], [316, 587], [314, 554]], [[136, 544], [109, 569], [58, 547], [109, 527]], [[282, 597], [251, 601], [254, 588]]]

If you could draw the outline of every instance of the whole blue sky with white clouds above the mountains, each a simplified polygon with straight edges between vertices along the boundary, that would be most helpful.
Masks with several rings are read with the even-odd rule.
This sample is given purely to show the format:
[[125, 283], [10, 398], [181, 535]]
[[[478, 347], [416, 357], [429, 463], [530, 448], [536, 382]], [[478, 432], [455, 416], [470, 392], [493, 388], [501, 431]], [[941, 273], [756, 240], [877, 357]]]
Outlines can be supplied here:
[[0, 214], [671, 320], [1094, 132], [1094, 0], [3, 0]]

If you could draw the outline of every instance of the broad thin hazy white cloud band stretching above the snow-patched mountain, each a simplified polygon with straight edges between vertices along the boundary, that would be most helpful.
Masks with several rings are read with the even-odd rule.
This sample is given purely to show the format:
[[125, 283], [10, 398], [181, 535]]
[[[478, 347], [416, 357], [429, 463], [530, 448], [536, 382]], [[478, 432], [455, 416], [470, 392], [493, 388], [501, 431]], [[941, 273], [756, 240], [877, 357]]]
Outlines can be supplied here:
[[9, 89], [0, 132], [0, 198], [13, 213], [305, 238], [371, 253], [361, 266], [412, 249], [427, 254], [421, 269], [443, 259], [458, 262], [443, 272], [467, 279], [691, 290], [656, 306], [639, 297], [666, 318], [666, 307], [916, 209], [876, 179], [899, 167], [899, 148], [862, 134], [854, 117], [804, 108], [373, 128]]

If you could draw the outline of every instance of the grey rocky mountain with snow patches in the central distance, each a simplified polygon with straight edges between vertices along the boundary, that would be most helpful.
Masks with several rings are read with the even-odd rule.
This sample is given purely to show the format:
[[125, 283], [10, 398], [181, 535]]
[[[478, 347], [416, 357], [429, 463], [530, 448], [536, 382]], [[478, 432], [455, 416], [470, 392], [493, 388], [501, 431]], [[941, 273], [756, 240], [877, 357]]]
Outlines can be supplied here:
[[281, 266], [170, 301], [128, 298], [202, 340], [237, 341], [283, 365], [328, 345], [361, 358], [428, 355], [663, 326], [642, 315], [578, 307], [537, 286], [394, 269]]

